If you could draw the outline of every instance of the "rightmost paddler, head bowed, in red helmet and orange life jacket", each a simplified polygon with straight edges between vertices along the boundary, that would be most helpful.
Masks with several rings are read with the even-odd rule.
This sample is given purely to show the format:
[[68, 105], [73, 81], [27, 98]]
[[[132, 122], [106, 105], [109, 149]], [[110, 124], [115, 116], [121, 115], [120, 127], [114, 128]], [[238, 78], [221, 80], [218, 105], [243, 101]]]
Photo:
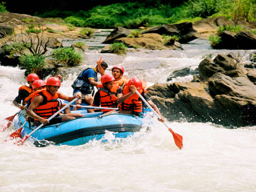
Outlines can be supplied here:
[[119, 103], [118, 113], [123, 114], [132, 114], [136, 116], [140, 116], [142, 112], [143, 103], [140, 99], [139, 95], [135, 92], [138, 92], [144, 97], [144, 99], [148, 102], [148, 104], [156, 111], [156, 113], [161, 117], [158, 119], [161, 122], [164, 122], [164, 117], [161, 115], [157, 106], [153, 103], [152, 100], [149, 99], [146, 92], [147, 83], [141, 81], [139, 78], [131, 78], [127, 85], [120, 87], [117, 90], [117, 102]]

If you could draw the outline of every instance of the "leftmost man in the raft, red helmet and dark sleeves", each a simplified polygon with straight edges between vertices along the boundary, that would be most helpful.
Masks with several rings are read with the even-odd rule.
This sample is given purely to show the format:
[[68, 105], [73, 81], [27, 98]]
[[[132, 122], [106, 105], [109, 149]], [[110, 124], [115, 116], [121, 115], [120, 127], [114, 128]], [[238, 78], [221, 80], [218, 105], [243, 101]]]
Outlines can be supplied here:
[[[25, 105], [27, 104], [28, 101], [28, 96], [34, 92], [32, 88], [32, 84], [34, 81], [39, 80], [39, 76], [36, 75], [35, 73], [30, 73], [27, 76], [27, 82], [29, 86], [27, 85], [22, 85], [19, 88], [19, 94], [18, 96], [12, 101], [13, 105], [20, 108], [21, 110], [26, 109]], [[22, 102], [22, 105], [20, 105]]]

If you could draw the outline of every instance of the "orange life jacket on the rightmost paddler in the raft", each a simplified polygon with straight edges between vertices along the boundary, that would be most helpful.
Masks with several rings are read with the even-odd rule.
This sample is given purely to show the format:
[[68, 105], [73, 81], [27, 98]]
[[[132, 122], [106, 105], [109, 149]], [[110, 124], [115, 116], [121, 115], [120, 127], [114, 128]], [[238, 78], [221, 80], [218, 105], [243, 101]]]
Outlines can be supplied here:
[[[123, 89], [123, 95], [127, 95], [130, 92], [130, 89], [127, 85], [124, 85]], [[141, 94], [143, 92], [146, 92], [146, 90], [138, 90], [138, 92]], [[126, 99], [124, 102], [119, 104], [120, 110], [131, 110], [134, 112], [141, 112], [142, 111], [142, 100], [140, 99], [138, 94], [133, 94], [131, 97]]]

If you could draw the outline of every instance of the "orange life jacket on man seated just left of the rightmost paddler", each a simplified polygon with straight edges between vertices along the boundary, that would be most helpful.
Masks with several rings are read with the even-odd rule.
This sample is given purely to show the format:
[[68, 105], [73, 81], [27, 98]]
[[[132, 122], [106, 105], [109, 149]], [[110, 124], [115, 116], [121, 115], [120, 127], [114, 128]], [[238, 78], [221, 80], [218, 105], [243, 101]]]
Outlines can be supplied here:
[[[117, 96], [116, 92], [112, 92], [112, 89], [109, 90], [103, 86], [103, 84], [97, 85], [98, 90], [100, 92], [100, 106], [101, 107], [111, 107], [116, 108], [117, 103]], [[101, 111], [111, 111], [110, 109], [101, 109]]]

